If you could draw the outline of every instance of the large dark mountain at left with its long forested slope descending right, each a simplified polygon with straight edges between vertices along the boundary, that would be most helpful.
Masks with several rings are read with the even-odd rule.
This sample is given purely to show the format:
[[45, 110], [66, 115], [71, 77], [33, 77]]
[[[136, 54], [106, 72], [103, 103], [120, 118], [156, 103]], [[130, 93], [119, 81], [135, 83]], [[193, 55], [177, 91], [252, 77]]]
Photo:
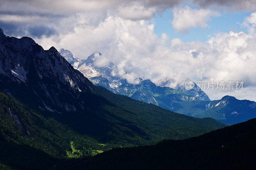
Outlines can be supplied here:
[[45, 169], [51, 158], [87, 158], [227, 126], [95, 86], [54, 47], [3, 30], [0, 58], [0, 167]]

